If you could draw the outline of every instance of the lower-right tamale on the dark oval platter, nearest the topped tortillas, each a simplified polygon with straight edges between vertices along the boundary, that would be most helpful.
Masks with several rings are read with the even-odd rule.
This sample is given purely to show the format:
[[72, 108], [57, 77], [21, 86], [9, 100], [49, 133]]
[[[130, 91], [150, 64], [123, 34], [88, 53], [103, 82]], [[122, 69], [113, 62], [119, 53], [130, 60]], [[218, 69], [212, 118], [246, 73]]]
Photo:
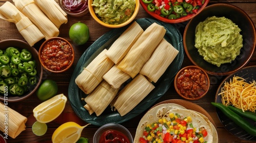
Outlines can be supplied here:
[[124, 86], [115, 100], [111, 103], [114, 110], [121, 116], [130, 112], [150, 93], [155, 86], [143, 75], [138, 74], [130, 83]]

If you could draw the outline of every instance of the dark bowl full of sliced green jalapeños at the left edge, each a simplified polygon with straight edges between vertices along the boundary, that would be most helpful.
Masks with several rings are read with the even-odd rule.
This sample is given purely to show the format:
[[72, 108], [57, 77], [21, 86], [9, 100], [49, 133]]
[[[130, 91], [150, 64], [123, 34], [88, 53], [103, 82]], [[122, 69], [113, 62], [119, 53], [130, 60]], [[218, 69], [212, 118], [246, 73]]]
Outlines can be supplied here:
[[0, 100], [24, 100], [36, 91], [42, 79], [38, 52], [17, 39], [0, 41], [0, 45]]

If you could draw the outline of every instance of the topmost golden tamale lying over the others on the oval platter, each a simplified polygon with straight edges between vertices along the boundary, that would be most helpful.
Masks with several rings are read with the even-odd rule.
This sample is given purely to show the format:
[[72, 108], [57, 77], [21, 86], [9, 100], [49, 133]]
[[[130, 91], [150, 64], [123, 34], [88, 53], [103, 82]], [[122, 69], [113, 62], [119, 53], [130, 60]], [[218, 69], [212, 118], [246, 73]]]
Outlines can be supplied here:
[[141, 34], [117, 67], [134, 78], [151, 57], [165, 32], [163, 26], [153, 23]]

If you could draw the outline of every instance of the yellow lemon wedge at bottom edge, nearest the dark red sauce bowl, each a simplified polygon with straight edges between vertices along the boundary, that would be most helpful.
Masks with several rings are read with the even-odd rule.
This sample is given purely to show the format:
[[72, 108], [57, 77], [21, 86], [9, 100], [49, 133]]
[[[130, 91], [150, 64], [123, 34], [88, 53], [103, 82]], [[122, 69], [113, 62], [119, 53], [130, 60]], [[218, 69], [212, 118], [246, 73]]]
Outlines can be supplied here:
[[83, 128], [86, 126], [80, 126], [75, 122], [67, 122], [60, 125], [52, 135], [52, 142], [76, 142], [80, 136]]

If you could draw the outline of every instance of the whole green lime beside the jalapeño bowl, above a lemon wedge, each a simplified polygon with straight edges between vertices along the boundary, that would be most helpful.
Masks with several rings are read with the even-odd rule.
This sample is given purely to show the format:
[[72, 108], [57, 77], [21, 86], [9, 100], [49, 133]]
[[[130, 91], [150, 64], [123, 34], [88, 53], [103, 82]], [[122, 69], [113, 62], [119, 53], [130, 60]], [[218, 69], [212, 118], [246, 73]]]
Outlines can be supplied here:
[[36, 96], [41, 101], [46, 101], [53, 96], [56, 96], [58, 91], [57, 83], [53, 80], [45, 80], [43, 81], [39, 88], [36, 90]]

